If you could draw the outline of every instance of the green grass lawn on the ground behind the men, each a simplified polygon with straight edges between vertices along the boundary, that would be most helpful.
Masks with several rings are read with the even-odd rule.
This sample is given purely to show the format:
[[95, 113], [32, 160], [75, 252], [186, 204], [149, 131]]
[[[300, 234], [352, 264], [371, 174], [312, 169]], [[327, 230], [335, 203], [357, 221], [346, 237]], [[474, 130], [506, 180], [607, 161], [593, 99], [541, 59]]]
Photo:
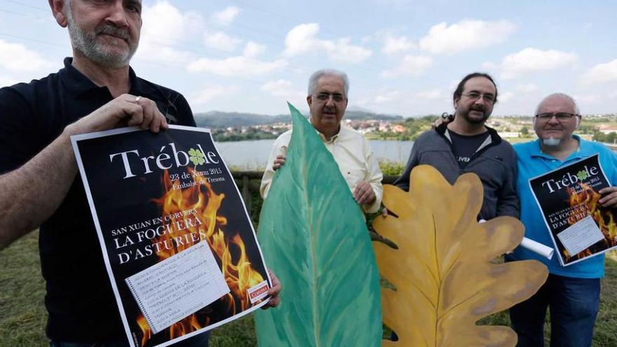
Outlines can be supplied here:
[[[43, 306], [45, 283], [41, 278], [37, 240], [38, 233], [30, 233], [0, 252], [0, 347], [48, 346]], [[482, 323], [508, 325], [508, 315], [499, 313]], [[210, 346], [256, 344], [252, 316], [248, 315], [215, 329]], [[609, 259], [593, 346], [617, 346], [617, 262]]]

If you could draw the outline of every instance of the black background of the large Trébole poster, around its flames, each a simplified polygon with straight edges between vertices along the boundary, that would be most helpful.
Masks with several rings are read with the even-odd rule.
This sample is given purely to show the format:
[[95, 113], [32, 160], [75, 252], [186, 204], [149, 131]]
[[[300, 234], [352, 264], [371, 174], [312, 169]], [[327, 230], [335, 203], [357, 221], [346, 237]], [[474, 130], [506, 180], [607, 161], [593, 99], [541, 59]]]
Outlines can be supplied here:
[[[115, 283], [117, 289], [114, 290], [116, 292], [116, 300], [121, 302], [121, 315], [124, 314], [126, 317], [126, 320], [123, 320], [123, 322], [125, 327], [128, 325], [130, 341], [135, 343], [135, 346], [142, 346], [142, 339], [144, 339], [142, 329], [137, 324], [137, 317], [141, 314], [141, 311], [125, 283], [125, 278], [160, 261], [156, 255], [156, 248], [151, 245], [153, 242], [151, 240], [144, 240], [138, 243], [136, 237], [137, 231], [154, 229], [160, 224], [153, 224], [144, 228], [138, 226], [135, 231], [128, 230], [120, 236], [113, 236], [112, 231], [163, 217], [161, 203], [157, 203], [155, 200], [160, 199], [165, 194], [165, 175], [168, 177], [177, 175], [177, 177], [180, 177], [179, 183], [191, 183], [194, 181], [194, 178], [189, 175], [189, 168], [195, 168], [200, 172], [207, 173], [202, 178], [207, 177], [210, 180], [212, 190], [217, 194], [224, 193], [221, 206], [217, 211], [217, 217], [226, 217], [226, 224], [217, 222], [216, 228], [223, 231], [226, 243], [229, 243], [229, 239], [233, 238], [236, 233], [240, 236], [246, 247], [246, 254], [252, 268], [264, 280], [268, 280], [269, 286], [271, 285], [266, 273], [261, 250], [257, 244], [255, 231], [250, 223], [242, 198], [233, 182], [233, 177], [231, 177], [224, 161], [219, 156], [208, 130], [172, 126], [168, 130], [153, 134], [148, 130], [125, 128], [79, 135], [73, 137], [72, 141], [74, 149], [76, 149], [80, 173], [86, 186], [90, 209], [93, 212], [99, 239], [102, 243], [104, 257], [107, 257], [105, 259], [107, 270], [110, 279]], [[211, 151], [215, 153], [214, 160], [219, 161], [219, 163], [194, 165], [194, 163], [189, 161], [187, 166], [177, 168], [175, 156], [170, 146], [171, 143], [175, 144], [176, 151], [187, 153], [191, 148], [198, 149], [197, 144], [201, 144], [201, 148], [206, 154], [205, 158], [208, 158], [207, 154]], [[124, 178], [127, 172], [121, 155], [114, 156], [112, 161], [110, 160], [110, 155], [135, 150], [139, 152], [139, 156], [133, 153], [127, 154], [131, 172], [135, 177]], [[163, 166], [172, 165], [166, 172], [156, 166], [156, 157], [163, 153], [170, 156], [170, 159], [163, 161]], [[154, 156], [154, 160], [149, 160], [149, 168], [152, 171], [150, 173], [145, 173], [144, 163], [140, 159], [147, 156]], [[184, 163], [183, 156], [180, 156], [180, 163]], [[183, 175], [184, 179], [182, 179]], [[214, 180], [219, 181], [213, 182]], [[205, 192], [205, 189], [200, 190]], [[205, 228], [206, 222], [203, 220], [201, 222], [203, 223], [201, 227]], [[126, 244], [125, 236], [129, 236], [135, 244], [123, 247]], [[118, 238], [117, 242], [114, 238]], [[147, 255], [147, 252], [144, 250], [144, 247], [147, 245], [151, 245], [151, 250], [154, 250], [153, 254]], [[238, 247], [234, 246], [236, 245], [229, 247], [232, 260], [237, 259], [240, 252]], [[139, 257], [137, 250], [141, 250], [142, 254], [146, 256]], [[123, 261], [126, 262], [121, 264], [121, 257], [118, 255], [120, 253], [130, 254], [130, 260], [126, 261], [126, 256], [123, 256]], [[217, 256], [217, 252], [213, 250], [212, 253], [215, 255], [220, 268], [222, 266], [221, 259]], [[235, 296], [234, 301], [236, 301], [236, 315], [239, 317], [241, 315], [240, 301]], [[118, 302], [118, 306], [120, 306], [120, 302]], [[222, 298], [196, 313], [198, 322], [205, 328], [202, 332], [211, 329], [213, 325], [217, 325], [217, 322], [222, 322], [233, 315], [233, 312], [229, 310], [228, 304]], [[261, 304], [264, 304], [264, 302], [255, 303], [245, 313], [252, 311], [258, 306], [262, 306]], [[158, 334], [150, 336], [145, 341], [144, 346], [157, 346], [158, 344], [170, 341], [170, 332], [168, 330], [165, 329]]]

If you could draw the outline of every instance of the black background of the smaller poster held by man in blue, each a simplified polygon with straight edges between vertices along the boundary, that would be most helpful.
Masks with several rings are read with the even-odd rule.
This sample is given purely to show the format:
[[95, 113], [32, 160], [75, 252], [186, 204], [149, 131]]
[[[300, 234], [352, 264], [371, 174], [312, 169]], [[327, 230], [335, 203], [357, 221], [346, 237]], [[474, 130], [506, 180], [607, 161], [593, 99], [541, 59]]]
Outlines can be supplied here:
[[[593, 175], [592, 172], [596, 172], [596, 175]], [[580, 178], [584, 176], [588, 177]], [[576, 177], [576, 179], [572, 177]], [[550, 182], [551, 179], [552, 182]], [[606, 228], [602, 226], [600, 230], [604, 234], [604, 240], [594, 243], [578, 254], [568, 254], [560, 239], [557, 238], [558, 233], [588, 215], [594, 217], [597, 225], [599, 225], [600, 219], [608, 225], [609, 221], [613, 220], [611, 215], [617, 216], [615, 208], [604, 208], [595, 203], [600, 198], [597, 191], [610, 186], [597, 154], [564, 168], [548, 172], [545, 175], [529, 179], [529, 186], [531, 186], [531, 192], [534, 193], [536, 203], [538, 203], [544, 222], [550, 231], [552, 243], [555, 245], [562, 266], [568, 266], [588, 257], [602, 254], [617, 246], [617, 241], [611, 238]], [[571, 203], [572, 195], [582, 197], [583, 201]], [[614, 222], [611, 224], [614, 224]]]

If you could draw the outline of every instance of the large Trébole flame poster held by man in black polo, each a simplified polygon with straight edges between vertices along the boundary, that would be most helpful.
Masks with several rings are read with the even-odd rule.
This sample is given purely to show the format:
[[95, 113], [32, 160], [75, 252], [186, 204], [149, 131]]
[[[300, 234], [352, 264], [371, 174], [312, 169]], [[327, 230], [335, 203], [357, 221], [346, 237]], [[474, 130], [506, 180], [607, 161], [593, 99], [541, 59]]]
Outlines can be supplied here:
[[71, 140], [131, 346], [168, 346], [266, 304], [262, 251], [210, 130]]

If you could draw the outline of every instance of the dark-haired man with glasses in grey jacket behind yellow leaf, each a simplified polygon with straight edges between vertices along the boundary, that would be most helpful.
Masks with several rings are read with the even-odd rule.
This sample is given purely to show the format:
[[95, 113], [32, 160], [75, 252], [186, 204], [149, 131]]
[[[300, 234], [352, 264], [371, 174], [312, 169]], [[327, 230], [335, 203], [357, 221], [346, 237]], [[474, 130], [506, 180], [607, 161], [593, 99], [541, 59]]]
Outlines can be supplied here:
[[409, 174], [421, 164], [435, 167], [450, 184], [463, 173], [473, 172], [484, 187], [478, 219], [518, 218], [516, 154], [494, 129], [484, 125], [497, 102], [495, 82], [488, 74], [468, 74], [454, 90], [452, 100], [454, 120], [418, 137], [405, 172], [394, 184], [409, 190]]

